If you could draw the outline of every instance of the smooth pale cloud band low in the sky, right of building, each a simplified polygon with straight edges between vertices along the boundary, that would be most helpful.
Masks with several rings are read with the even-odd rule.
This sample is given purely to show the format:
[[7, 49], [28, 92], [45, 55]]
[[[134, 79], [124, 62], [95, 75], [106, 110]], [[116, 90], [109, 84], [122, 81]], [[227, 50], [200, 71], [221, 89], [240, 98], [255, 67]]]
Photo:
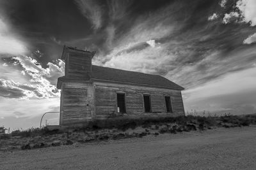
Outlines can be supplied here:
[[[225, 74], [204, 85], [183, 92], [186, 110], [231, 112], [233, 114], [256, 112], [256, 67]], [[239, 94], [239, 97], [237, 97]]]

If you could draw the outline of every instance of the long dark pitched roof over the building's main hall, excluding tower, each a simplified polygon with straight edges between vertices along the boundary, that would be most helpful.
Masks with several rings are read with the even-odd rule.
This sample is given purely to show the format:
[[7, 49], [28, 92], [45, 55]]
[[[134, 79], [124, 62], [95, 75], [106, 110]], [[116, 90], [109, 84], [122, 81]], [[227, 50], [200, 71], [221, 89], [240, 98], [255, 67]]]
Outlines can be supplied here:
[[145, 74], [135, 71], [125, 71], [122, 69], [113, 69], [110, 67], [101, 67], [92, 65], [91, 78], [96, 80], [118, 81], [124, 83], [134, 83], [138, 85], [150, 85], [154, 87], [163, 87], [167, 89], [184, 90], [173, 81], [163, 76], [155, 74]]

